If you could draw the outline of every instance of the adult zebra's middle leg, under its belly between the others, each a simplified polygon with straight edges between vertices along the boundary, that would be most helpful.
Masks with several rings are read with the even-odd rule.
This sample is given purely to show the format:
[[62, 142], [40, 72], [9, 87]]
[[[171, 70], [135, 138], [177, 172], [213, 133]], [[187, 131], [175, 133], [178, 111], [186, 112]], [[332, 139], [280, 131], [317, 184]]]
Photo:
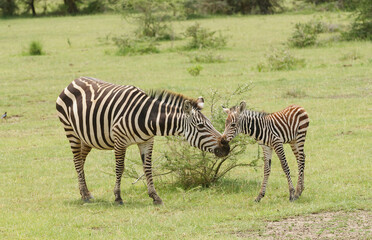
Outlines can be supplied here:
[[123, 176], [124, 172], [124, 159], [126, 153], [126, 145], [118, 139], [115, 139], [115, 174], [116, 174], [116, 183], [114, 188], [114, 195], [115, 195], [115, 202], [122, 205], [123, 199], [120, 195], [120, 184], [121, 184], [121, 177]]

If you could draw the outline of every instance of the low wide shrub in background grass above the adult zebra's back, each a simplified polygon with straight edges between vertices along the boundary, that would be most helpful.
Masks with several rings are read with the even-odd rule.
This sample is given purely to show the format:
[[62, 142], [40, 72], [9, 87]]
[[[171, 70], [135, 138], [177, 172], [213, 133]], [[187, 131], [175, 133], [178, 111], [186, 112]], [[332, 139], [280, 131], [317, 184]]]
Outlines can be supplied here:
[[151, 39], [133, 39], [127, 36], [113, 37], [112, 41], [118, 47], [118, 55], [135, 55], [146, 53], [158, 53], [156, 43]]

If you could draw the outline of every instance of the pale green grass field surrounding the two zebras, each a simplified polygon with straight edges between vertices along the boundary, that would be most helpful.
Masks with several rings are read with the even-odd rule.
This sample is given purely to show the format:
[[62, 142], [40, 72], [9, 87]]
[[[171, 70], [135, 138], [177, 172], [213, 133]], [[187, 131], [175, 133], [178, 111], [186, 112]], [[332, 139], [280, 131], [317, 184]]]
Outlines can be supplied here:
[[[342, 13], [326, 14], [344, 22]], [[218, 17], [200, 20], [211, 30], [230, 36], [219, 50], [229, 61], [203, 65], [194, 78], [189, 63], [177, 52], [113, 56], [115, 46], [98, 41], [108, 34], [130, 31], [119, 15], [0, 20], [0, 238], [2, 239], [234, 239], [237, 232], [259, 232], [267, 220], [335, 210], [371, 210], [372, 136], [370, 42], [335, 42], [326, 47], [294, 49], [306, 67], [258, 72], [255, 67], [270, 47], [280, 47], [293, 22], [307, 15]], [[181, 33], [194, 21], [175, 22]], [[257, 27], [259, 26], [259, 27]], [[22, 50], [39, 39], [48, 54], [24, 56]], [[69, 40], [70, 44], [67, 43]], [[160, 49], [185, 44], [163, 42]], [[343, 56], [360, 52], [345, 67]], [[294, 203], [279, 160], [274, 157], [265, 198], [254, 203], [263, 170], [240, 168], [209, 189], [181, 191], [167, 179], [155, 179], [165, 206], [154, 207], [141, 182], [123, 179], [123, 206], [114, 204], [114, 154], [93, 150], [86, 163], [88, 187], [95, 196], [80, 201], [72, 154], [57, 119], [55, 100], [74, 78], [92, 76], [142, 89], [164, 88], [191, 97], [211, 88], [235, 89], [251, 81], [245, 99], [268, 112], [289, 104], [303, 106], [310, 117], [306, 140], [305, 191]], [[301, 98], [287, 97], [296, 89]], [[236, 99], [240, 101], [241, 99]], [[206, 108], [209, 99], [205, 99]], [[205, 111], [207, 112], [207, 111]], [[164, 139], [155, 141], [154, 159]], [[250, 161], [257, 146], [241, 161]], [[290, 148], [287, 158], [293, 180], [297, 166]], [[130, 147], [130, 159], [140, 161]]]

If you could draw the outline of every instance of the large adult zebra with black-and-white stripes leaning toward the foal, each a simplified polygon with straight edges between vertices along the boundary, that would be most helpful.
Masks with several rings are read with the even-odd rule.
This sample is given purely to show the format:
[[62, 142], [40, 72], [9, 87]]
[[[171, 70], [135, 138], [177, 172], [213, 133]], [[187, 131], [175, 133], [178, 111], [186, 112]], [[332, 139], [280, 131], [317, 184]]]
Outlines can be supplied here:
[[162, 204], [156, 193], [151, 168], [154, 136], [181, 135], [190, 145], [226, 156], [228, 144], [200, 112], [203, 98], [197, 100], [168, 91], [145, 93], [134, 86], [120, 86], [81, 77], [68, 85], [57, 98], [58, 117], [66, 131], [74, 155], [81, 197], [88, 191], [84, 162], [92, 148], [114, 149], [116, 159], [115, 201], [122, 204], [120, 183], [128, 146], [137, 144], [154, 204]]

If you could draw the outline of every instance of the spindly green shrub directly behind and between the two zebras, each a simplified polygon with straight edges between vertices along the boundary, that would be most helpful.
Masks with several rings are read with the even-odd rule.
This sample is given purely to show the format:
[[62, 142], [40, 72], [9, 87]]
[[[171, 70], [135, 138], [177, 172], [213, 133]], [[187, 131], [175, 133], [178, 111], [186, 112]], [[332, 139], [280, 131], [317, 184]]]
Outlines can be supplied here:
[[[229, 105], [232, 97], [239, 100], [246, 97], [250, 90], [249, 85], [238, 86], [233, 92], [212, 91], [210, 99], [211, 121], [213, 126], [220, 132], [224, 131], [226, 114], [222, 111], [221, 105]], [[217, 158], [211, 153], [202, 152], [192, 148], [179, 137], [167, 137], [166, 148], [163, 151], [162, 161], [159, 168], [162, 172], [170, 172], [176, 184], [184, 189], [203, 186], [209, 187], [225, 176], [229, 171], [240, 166], [257, 166], [259, 158], [248, 163], [239, 162], [238, 158], [245, 153], [249, 144], [254, 141], [247, 135], [239, 135], [230, 143], [230, 154], [223, 158]]]

